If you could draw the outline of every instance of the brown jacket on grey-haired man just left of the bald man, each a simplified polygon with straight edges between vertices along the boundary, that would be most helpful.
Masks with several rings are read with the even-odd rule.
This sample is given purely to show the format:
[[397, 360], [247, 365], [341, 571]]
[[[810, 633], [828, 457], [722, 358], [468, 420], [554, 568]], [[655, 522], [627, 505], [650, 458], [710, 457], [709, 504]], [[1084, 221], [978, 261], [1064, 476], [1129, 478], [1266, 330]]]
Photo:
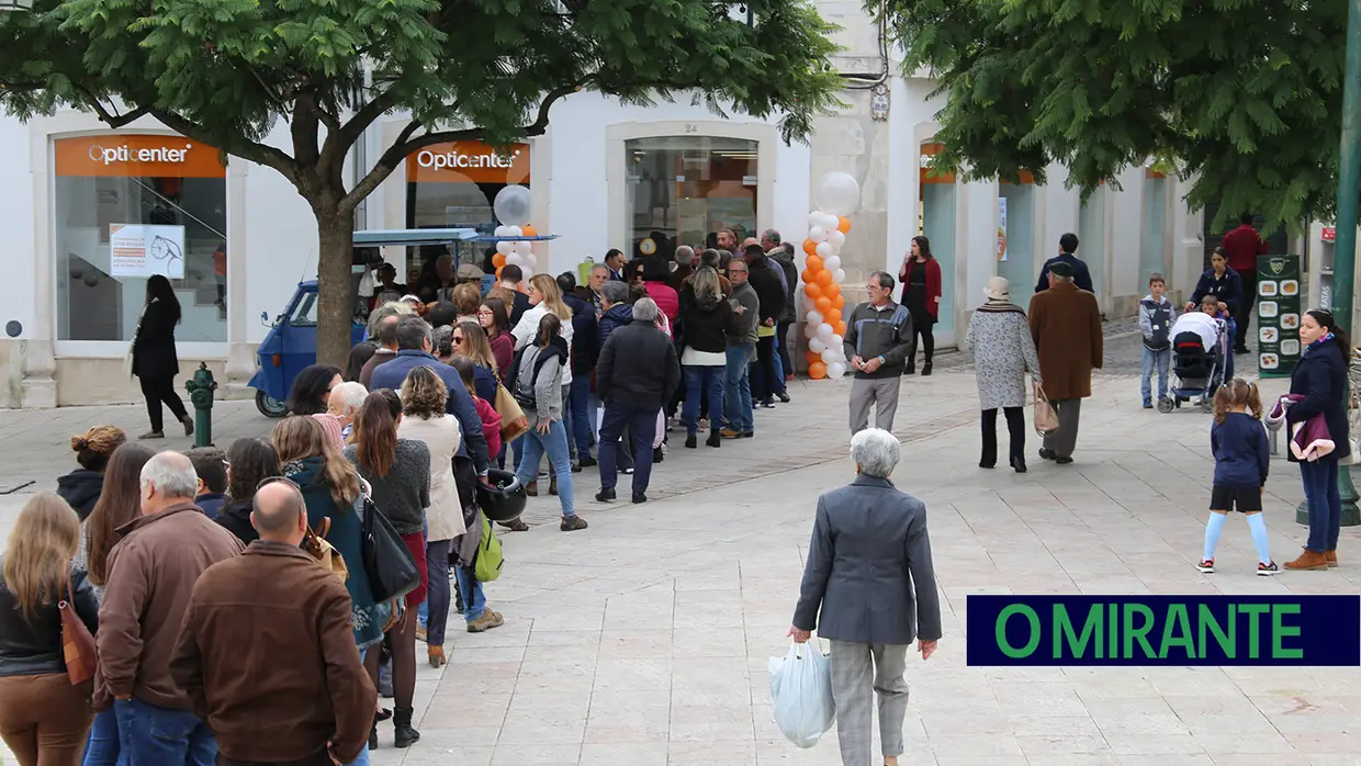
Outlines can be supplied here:
[[95, 709], [114, 698], [189, 710], [189, 698], [170, 679], [170, 654], [189, 595], [203, 570], [241, 552], [241, 540], [192, 502], [139, 516], [118, 528], [109, 554], [109, 582], [99, 604], [95, 642]]

